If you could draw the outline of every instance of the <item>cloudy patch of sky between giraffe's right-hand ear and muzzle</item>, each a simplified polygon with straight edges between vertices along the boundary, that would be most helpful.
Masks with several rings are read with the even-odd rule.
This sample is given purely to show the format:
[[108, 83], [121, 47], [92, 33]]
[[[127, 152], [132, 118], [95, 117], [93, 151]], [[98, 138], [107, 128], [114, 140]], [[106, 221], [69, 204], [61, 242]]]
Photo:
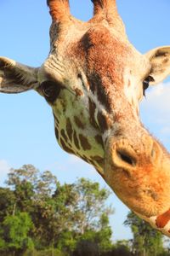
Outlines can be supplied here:
[[148, 90], [141, 103], [141, 117], [144, 125], [170, 148], [170, 82]]

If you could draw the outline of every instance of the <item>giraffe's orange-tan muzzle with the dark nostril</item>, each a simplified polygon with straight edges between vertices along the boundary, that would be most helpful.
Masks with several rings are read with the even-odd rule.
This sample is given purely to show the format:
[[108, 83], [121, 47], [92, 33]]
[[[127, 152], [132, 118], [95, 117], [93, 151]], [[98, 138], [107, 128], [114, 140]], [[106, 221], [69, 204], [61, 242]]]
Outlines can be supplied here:
[[169, 155], [150, 135], [133, 143], [125, 138], [108, 140], [105, 181], [127, 207], [146, 218], [170, 208]]

